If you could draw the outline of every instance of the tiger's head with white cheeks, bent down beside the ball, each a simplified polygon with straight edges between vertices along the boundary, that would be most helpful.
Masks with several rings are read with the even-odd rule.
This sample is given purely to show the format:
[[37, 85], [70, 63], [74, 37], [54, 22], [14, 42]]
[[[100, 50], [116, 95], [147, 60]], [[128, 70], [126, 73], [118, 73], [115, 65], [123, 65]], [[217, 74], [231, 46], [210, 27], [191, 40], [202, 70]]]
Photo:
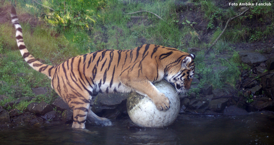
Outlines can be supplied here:
[[193, 60], [195, 55], [190, 54], [190, 56], [180, 60], [179, 65], [181, 65], [181, 68], [174, 67], [166, 77], [166, 80], [174, 85], [178, 93], [183, 93], [186, 89], [189, 89], [194, 78], [195, 65]]

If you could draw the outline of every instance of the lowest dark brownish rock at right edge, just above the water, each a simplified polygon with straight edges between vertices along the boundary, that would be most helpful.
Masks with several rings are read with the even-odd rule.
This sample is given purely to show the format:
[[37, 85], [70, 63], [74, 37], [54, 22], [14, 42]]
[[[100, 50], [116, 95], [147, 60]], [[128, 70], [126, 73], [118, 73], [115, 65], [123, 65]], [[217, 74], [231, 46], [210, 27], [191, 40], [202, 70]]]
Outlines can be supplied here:
[[251, 111], [258, 111], [258, 110], [274, 110], [274, 101], [269, 100], [268, 97], [256, 98], [250, 104]]

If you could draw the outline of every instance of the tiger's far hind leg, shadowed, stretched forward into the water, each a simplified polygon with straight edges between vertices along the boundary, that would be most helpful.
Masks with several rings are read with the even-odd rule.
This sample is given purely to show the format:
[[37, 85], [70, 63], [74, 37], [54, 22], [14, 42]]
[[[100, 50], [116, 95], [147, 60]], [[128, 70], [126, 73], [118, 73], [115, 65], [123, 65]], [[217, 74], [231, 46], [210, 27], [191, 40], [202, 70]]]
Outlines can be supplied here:
[[111, 126], [112, 123], [109, 119], [99, 117], [91, 111], [91, 108], [93, 106], [93, 102], [94, 102], [95, 98], [96, 98], [96, 96], [92, 96], [92, 100], [90, 101], [90, 107], [89, 107], [89, 110], [87, 112], [87, 119], [94, 122], [94, 123], [96, 123], [97, 125], [100, 125], [100, 126]]

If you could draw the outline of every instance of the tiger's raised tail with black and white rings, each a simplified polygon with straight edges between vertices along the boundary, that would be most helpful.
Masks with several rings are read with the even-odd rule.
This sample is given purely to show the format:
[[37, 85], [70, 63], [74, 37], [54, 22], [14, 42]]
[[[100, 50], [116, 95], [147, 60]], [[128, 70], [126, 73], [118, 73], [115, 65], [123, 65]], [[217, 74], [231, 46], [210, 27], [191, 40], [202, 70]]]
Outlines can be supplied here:
[[26, 49], [25, 43], [23, 41], [23, 33], [22, 33], [22, 27], [19, 24], [18, 17], [16, 14], [15, 8], [12, 6], [11, 8], [11, 18], [12, 18], [12, 25], [16, 29], [16, 41], [17, 45], [19, 47], [19, 50], [21, 52], [21, 55], [25, 59], [25, 61], [36, 71], [39, 71], [45, 75], [47, 75], [49, 78], [51, 78], [51, 69], [54, 68], [54, 66], [43, 64], [37, 59], [35, 59], [29, 51]]

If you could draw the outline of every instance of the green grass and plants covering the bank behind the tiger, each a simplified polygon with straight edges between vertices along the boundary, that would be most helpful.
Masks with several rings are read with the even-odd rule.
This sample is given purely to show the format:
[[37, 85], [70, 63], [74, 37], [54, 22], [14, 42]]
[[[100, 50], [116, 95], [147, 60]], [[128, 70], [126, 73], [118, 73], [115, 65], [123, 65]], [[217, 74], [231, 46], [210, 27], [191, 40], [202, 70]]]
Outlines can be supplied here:
[[[54, 11], [32, 0], [0, 1], [0, 7], [16, 5], [19, 17], [24, 13], [32, 16], [27, 18], [29, 21], [21, 22], [26, 46], [34, 57], [52, 65], [79, 54], [101, 49], [133, 49], [143, 43], [174, 47], [183, 51], [188, 51], [188, 47], [208, 47], [222, 32], [227, 20], [241, 11], [239, 6], [223, 8], [223, 4], [217, 4], [213, 0], [189, 0], [187, 3], [193, 2], [191, 5], [194, 5], [195, 11], [201, 13], [206, 22], [204, 27], [211, 34], [204, 38], [209, 40], [206, 43], [201, 39], [205, 37], [204, 32], [196, 28], [202, 24], [180, 18], [181, 13], [193, 11], [193, 8], [178, 8], [173, 0], [39, 1]], [[180, 7], [182, 5], [184, 4]], [[153, 12], [163, 20], [148, 12], [127, 14], [140, 10]], [[249, 69], [249, 66], [240, 63], [238, 52], [230, 44], [264, 41], [272, 36], [273, 14], [273, 5], [256, 6], [230, 22], [209, 57], [205, 57], [204, 49], [195, 53], [195, 77], [200, 79], [200, 83], [198, 89], [194, 88], [190, 92], [198, 94], [199, 88], [205, 84], [213, 85], [213, 88], [234, 86], [239, 79], [240, 70]], [[39, 20], [40, 24], [33, 25], [30, 19]], [[24, 62], [16, 45], [15, 30], [10, 23], [0, 25], [0, 81], [0, 95], [8, 97], [0, 105], [20, 97], [33, 98], [31, 101], [10, 106], [10, 109], [23, 110], [30, 102], [51, 103], [56, 97], [54, 91], [50, 93], [50, 97], [35, 96], [32, 93], [31, 88], [51, 88], [50, 81]]]

